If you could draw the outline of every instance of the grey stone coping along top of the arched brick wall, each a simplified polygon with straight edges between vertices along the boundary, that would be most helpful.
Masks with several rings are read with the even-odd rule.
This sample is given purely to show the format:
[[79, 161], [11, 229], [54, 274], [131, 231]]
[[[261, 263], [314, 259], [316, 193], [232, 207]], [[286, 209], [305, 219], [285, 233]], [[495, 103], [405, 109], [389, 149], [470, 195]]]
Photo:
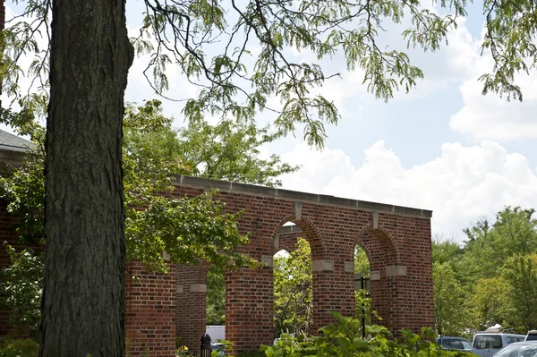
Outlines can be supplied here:
[[365, 200], [351, 200], [334, 196], [308, 193], [301, 191], [290, 191], [284, 189], [275, 189], [271, 187], [258, 186], [247, 183], [229, 183], [222, 180], [211, 180], [201, 177], [192, 177], [186, 175], [175, 175], [174, 184], [176, 186], [197, 187], [202, 189], [217, 189], [219, 191], [242, 193], [251, 196], [276, 197], [284, 200], [297, 200], [302, 202], [316, 203], [328, 206], [340, 206], [346, 208], [356, 208], [359, 210], [389, 212], [397, 215], [410, 217], [432, 217], [432, 211], [428, 209], [409, 208], [403, 206], [388, 205], [379, 202], [370, 202]]

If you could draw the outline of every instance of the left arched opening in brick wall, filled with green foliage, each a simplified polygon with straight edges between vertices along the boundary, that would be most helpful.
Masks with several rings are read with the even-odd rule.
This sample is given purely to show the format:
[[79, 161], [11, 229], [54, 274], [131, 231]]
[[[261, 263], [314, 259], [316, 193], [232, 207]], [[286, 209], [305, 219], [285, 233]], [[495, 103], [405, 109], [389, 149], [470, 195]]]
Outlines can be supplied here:
[[274, 254], [274, 335], [311, 333], [313, 288], [310, 243], [286, 237], [286, 249]]

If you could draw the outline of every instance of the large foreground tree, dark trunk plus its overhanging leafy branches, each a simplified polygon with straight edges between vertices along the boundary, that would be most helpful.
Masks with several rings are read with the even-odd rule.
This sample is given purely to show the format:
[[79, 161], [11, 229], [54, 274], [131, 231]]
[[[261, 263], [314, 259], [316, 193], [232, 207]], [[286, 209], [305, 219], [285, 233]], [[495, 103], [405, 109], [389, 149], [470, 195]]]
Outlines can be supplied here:
[[[422, 71], [404, 52], [379, 47], [384, 22], [398, 23], [408, 15], [411, 26], [403, 37], [409, 46], [435, 50], [465, 16], [466, 1], [440, 2], [444, 9], [437, 13], [419, 1], [398, 0], [144, 0], [145, 18], [140, 36], [132, 39], [134, 51], [127, 38], [124, 1], [26, 4], [26, 14], [33, 19], [8, 24], [4, 30], [0, 77], [5, 93], [21, 99], [21, 113], [49, 104], [40, 354], [123, 357], [121, 140], [124, 89], [133, 55], [149, 53], [152, 84], [160, 92], [168, 88], [165, 69], [170, 64], [200, 86], [199, 96], [189, 98], [184, 107], [190, 120], [208, 112], [238, 121], [252, 119], [267, 109], [270, 96], [277, 96], [279, 130], [294, 132], [300, 125], [308, 143], [322, 146], [324, 123], [336, 123], [339, 115], [332, 102], [311, 89], [337, 73], [325, 73], [319, 64], [295, 62], [286, 49], [311, 51], [319, 60], [341, 51], [349, 70], [364, 72], [368, 90], [388, 99], [396, 89], [412, 88]], [[513, 80], [516, 72], [527, 71], [526, 63], [537, 60], [537, 20], [528, 15], [533, 5], [533, 0], [483, 2], [487, 30], [482, 47], [490, 50], [495, 62], [492, 72], [482, 76], [484, 93], [522, 98]], [[234, 23], [228, 24], [226, 15], [231, 13]], [[49, 22], [50, 29], [42, 33], [51, 34], [50, 46], [39, 48], [36, 27]], [[245, 56], [252, 43], [260, 51], [248, 62]], [[37, 57], [30, 68], [21, 68], [23, 53]], [[21, 96], [21, 72], [43, 80], [34, 81], [44, 88], [41, 93], [50, 85], [50, 98], [36, 98], [31, 90], [29, 96]], [[64, 332], [77, 338], [60, 338]]]

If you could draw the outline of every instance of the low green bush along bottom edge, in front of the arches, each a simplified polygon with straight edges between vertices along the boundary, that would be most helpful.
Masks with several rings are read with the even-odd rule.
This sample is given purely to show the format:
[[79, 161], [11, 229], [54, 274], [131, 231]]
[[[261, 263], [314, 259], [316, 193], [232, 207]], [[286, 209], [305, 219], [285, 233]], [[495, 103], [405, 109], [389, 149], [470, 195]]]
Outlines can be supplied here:
[[335, 324], [320, 329], [321, 336], [293, 337], [282, 335], [277, 344], [261, 346], [267, 357], [354, 357], [354, 356], [470, 356], [471, 353], [450, 352], [434, 343], [434, 331], [422, 328], [421, 335], [403, 330], [402, 338], [393, 339], [386, 327], [370, 326], [370, 338], [362, 339], [358, 319], [332, 313]]

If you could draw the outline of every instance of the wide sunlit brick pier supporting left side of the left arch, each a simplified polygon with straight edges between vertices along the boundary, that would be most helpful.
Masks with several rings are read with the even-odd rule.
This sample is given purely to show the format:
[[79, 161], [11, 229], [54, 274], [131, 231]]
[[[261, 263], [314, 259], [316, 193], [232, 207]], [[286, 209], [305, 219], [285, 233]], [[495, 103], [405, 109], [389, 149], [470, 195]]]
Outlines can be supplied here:
[[272, 267], [226, 272], [226, 340], [234, 353], [259, 351], [274, 341]]

